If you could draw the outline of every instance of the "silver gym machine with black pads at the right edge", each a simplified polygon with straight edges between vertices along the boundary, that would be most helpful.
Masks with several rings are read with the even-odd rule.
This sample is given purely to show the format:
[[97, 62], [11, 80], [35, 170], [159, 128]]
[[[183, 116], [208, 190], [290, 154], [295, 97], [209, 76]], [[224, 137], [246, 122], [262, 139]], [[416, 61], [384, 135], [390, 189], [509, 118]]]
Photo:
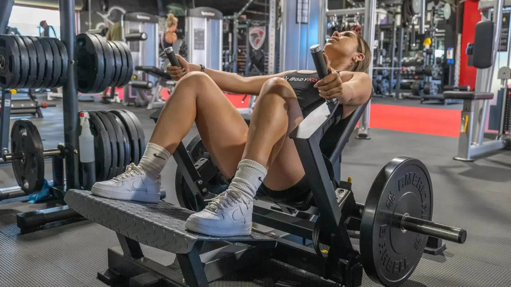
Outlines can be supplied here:
[[[502, 38], [502, 12], [504, 0], [481, 0], [479, 11], [481, 21], [476, 24], [474, 43], [467, 47], [469, 64], [477, 68], [475, 91], [448, 91], [444, 93], [446, 99], [463, 100], [461, 111], [461, 124], [458, 139], [458, 154], [456, 160], [473, 161], [475, 157], [511, 147], [509, 137], [511, 92], [507, 89], [507, 81], [511, 79], [511, 70], [508, 67], [499, 69], [497, 79], [502, 81], [504, 92], [498, 97], [497, 108], [493, 109], [491, 125], [498, 128], [497, 134], [493, 134], [493, 140], [484, 140], [486, 123], [492, 116], [490, 100], [494, 98], [492, 81], [494, 78], [497, 53], [501, 49], [501, 40], [504, 40], [504, 51], [508, 52], [507, 65], [511, 57], [508, 35]], [[493, 13], [492, 10], [493, 9]], [[492, 19], [493, 14], [493, 21]], [[507, 25], [508, 22], [506, 22]], [[507, 32], [509, 29], [507, 29]]]

